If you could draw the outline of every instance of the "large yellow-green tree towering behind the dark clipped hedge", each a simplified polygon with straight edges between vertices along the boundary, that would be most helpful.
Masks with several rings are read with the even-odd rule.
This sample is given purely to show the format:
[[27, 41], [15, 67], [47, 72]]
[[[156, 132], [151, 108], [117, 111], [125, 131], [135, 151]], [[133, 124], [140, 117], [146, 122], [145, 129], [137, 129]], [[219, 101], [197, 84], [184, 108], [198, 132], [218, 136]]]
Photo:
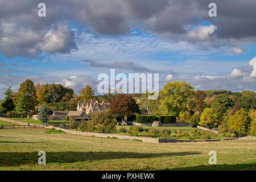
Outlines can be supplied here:
[[189, 111], [189, 100], [193, 96], [193, 87], [187, 82], [168, 82], [160, 95], [159, 111], [166, 115], [176, 115]]

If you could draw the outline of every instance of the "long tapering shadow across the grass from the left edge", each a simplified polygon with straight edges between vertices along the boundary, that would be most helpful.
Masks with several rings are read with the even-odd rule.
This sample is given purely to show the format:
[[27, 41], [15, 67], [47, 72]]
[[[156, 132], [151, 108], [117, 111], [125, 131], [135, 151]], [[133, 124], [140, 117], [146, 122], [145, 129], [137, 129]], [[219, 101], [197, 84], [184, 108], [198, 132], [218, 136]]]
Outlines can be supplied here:
[[[75, 163], [92, 162], [94, 160], [110, 159], [143, 159], [163, 156], [197, 155], [201, 152], [170, 152], [170, 153], [137, 153], [137, 152], [47, 152], [46, 163]], [[19, 166], [24, 164], [38, 164], [38, 152], [0, 152], [1, 166]]]

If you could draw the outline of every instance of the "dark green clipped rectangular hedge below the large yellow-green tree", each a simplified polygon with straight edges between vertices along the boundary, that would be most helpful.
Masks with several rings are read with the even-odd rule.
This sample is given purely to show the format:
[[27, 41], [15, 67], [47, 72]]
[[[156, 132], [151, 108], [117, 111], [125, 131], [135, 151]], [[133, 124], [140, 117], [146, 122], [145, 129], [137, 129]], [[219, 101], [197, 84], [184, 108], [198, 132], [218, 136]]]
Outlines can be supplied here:
[[161, 123], [176, 123], [174, 115], [137, 115], [135, 122], [137, 123], [152, 123], [160, 121]]

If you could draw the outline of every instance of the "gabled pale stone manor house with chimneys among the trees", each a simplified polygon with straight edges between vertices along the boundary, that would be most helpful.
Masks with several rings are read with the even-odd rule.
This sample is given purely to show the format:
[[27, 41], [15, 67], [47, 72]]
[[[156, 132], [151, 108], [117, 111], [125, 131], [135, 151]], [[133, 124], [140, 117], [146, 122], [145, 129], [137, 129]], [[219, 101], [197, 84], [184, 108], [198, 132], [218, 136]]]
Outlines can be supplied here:
[[109, 102], [103, 101], [98, 102], [96, 99], [82, 101], [79, 100], [77, 104], [77, 111], [85, 111], [86, 114], [95, 113], [101, 110], [107, 110], [109, 107]]

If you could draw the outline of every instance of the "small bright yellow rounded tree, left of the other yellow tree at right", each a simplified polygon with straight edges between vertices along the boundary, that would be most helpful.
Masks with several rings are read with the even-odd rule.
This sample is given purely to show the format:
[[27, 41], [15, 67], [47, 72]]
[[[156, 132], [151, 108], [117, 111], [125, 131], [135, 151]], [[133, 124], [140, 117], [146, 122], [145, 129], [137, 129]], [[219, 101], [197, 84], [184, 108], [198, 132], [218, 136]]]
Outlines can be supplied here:
[[213, 112], [212, 108], [205, 108], [200, 117], [199, 125], [201, 126], [217, 126], [217, 114]]

